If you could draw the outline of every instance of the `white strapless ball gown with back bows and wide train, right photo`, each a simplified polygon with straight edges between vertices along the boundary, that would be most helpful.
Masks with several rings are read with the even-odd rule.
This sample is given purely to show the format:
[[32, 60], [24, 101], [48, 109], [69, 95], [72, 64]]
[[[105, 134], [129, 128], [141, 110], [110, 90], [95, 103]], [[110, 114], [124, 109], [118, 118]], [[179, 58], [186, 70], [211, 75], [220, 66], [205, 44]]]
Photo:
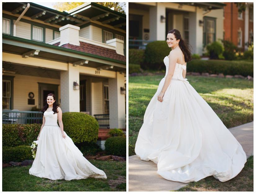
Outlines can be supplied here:
[[[166, 75], [169, 59], [164, 58]], [[243, 169], [246, 154], [212, 108], [182, 77], [185, 64], [176, 64], [173, 79], [157, 100], [159, 83], [138, 134], [135, 152], [157, 164], [164, 179], [189, 183], [213, 175], [224, 182]]]

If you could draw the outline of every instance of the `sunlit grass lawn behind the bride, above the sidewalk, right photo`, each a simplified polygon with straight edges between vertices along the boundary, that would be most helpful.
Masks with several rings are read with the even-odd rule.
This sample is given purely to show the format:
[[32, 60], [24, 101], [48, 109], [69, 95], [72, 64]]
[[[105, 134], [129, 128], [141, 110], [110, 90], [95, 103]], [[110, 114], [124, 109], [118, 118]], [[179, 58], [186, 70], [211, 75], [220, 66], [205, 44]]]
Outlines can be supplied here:
[[[163, 75], [129, 77], [129, 156], [150, 99]], [[186, 76], [227, 128], [253, 121], [253, 82], [234, 78]]]

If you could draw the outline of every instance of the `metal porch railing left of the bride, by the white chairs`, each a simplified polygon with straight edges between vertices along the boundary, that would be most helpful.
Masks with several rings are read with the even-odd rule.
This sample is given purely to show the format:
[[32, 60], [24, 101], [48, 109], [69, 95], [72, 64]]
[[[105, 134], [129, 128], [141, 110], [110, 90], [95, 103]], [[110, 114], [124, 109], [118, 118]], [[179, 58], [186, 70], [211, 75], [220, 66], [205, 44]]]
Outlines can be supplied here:
[[37, 112], [37, 111], [3, 110], [2, 123], [42, 124], [43, 115], [42, 115], [42, 112]]

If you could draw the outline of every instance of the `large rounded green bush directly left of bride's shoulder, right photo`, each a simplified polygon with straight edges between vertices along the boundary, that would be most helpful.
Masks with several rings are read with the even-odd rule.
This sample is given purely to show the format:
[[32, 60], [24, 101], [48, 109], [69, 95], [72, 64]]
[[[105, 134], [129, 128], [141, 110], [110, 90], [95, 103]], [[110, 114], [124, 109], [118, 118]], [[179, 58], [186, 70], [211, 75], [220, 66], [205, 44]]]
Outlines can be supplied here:
[[142, 69], [164, 69], [164, 57], [168, 56], [171, 48], [168, 47], [166, 41], [150, 42], [146, 46], [144, 63]]

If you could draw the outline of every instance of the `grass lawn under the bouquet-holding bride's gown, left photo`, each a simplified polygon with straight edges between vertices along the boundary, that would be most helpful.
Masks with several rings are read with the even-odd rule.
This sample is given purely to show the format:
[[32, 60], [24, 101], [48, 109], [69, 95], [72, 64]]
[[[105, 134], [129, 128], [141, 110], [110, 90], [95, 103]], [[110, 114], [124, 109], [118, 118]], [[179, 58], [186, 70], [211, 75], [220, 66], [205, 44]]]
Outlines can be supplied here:
[[28, 166], [2, 169], [2, 191], [126, 191], [126, 162], [89, 160], [107, 179], [50, 180], [29, 174]]

